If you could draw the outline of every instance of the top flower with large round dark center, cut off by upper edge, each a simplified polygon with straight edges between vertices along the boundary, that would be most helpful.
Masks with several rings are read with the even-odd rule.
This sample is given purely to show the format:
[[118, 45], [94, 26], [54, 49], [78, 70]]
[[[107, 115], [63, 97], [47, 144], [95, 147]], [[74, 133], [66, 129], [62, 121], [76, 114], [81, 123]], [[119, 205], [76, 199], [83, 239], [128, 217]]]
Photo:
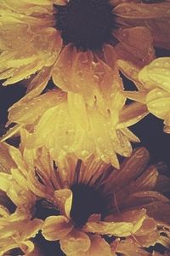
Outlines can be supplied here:
[[155, 57], [153, 40], [169, 49], [169, 8], [168, 1], [3, 0], [0, 79], [36, 74], [28, 91], [37, 96], [52, 77], [90, 101], [118, 73], [116, 59], [143, 67]]

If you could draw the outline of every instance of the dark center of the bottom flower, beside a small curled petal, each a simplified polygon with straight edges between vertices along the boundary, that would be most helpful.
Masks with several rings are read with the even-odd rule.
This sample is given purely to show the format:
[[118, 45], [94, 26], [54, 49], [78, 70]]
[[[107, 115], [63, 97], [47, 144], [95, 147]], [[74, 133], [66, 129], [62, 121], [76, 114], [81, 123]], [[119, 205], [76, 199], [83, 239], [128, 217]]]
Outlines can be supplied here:
[[75, 184], [71, 187], [73, 201], [71, 218], [75, 227], [81, 228], [94, 213], [105, 211], [105, 201], [102, 195], [93, 188], [84, 184]]

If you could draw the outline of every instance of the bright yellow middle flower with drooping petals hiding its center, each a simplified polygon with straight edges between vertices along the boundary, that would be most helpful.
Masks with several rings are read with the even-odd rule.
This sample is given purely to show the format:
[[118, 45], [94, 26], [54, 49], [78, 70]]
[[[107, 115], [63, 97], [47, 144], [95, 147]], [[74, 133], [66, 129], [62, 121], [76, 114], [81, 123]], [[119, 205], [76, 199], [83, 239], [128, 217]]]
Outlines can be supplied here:
[[8, 115], [9, 122], [18, 125], [3, 140], [26, 127], [30, 132], [27, 148], [45, 145], [55, 160], [70, 153], [82, 160], [95, 154], [118, 167], [116, 154], [130, 156], [130, 142], [139, 142], [127, 127], [142, 119], [148, 110], [140, 103], [125, 105], [126, 98], [119, 90], [110, 97], [110, 101], [96, 101], [92, 107], [82, 96], [61, 90], [48, 91], [27, 103], [21, 100]]

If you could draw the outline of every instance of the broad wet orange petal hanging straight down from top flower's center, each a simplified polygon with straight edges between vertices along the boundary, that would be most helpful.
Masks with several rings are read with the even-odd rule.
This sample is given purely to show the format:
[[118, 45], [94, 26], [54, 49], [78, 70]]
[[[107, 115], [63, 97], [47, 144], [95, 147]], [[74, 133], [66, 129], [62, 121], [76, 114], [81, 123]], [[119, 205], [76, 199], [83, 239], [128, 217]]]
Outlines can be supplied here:
[[92, 51], [82, 52], [70, 44], [62, 50], [53, 72], [54, 84], [67, 92], [81, 94], [91, 106], [94, 105], [95, 97], [100, 104], [103, 96], [111, 94], [113, 80], [117, 80], [113, 76], [111, 67], [94, 56]]

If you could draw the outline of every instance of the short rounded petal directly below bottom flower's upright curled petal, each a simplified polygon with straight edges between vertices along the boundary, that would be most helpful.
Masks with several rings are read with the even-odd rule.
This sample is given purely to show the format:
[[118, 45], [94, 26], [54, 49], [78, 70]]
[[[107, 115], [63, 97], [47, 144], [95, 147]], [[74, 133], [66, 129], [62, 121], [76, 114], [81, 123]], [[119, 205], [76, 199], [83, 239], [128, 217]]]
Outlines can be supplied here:
[[73, 229], [71, 222], [64, 216], [50, 216], [42, 225], [42, 235], [48, 241], [63, 239]]

